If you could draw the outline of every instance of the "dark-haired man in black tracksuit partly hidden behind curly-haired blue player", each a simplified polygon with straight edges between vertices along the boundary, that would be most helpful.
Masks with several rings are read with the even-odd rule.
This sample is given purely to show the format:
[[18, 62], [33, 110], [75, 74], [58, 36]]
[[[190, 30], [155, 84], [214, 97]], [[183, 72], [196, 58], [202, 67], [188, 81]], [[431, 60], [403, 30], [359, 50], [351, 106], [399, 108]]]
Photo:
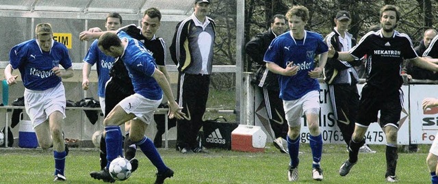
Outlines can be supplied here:
[[276, 14], [271, 19], [271, 26], [268, 31], [257, 34], [251, 39], [245, 47], [246, 54], [253, 60], [257, 66], [255, 73], [256, 80], [253, 81], [260, 88], [261, 96], [265, 101], [266, 113], [269, 122], [274, 131], [274, 146], [279, 148], [282, 153], [287, 153], [286, 135], [287, 122], [285, 121], [285, 111], [283, 101], [280, 98], [280, 86], [276, 74], [266, 69], [266, 62], [263, 57], [270, 43], [276, 36], [283, 34], [287, 29], [287, 20], [285, 16]]

